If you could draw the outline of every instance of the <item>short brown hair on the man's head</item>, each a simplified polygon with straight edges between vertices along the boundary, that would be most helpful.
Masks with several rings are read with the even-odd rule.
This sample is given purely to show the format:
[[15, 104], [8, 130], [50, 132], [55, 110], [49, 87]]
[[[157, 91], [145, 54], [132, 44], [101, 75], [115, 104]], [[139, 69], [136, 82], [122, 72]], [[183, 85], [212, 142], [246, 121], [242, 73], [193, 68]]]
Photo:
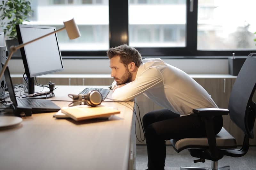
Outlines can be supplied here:
[[109, 59], [119, 55], [121, 63], [123, 63], [125, 66], [134, 62], [135, 65], [139, 67], [142, 63], [142, 57], [139, 51], [126, 44], [108, 49], [107, 55]]

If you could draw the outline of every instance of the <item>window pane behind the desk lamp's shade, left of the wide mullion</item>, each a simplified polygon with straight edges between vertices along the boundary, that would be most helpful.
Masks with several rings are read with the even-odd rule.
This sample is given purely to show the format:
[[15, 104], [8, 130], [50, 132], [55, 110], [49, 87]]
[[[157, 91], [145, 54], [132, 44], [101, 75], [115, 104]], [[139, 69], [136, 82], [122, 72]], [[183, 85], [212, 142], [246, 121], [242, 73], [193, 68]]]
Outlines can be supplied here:
[[55, 26], [58, 29], [64, 26], [63, 21], [75, 18], [81, 37], [69, 40], [65, 30], [58, 32], [61, 51], [99, 51], [109, 48], [108, 0], [32, 0], [31, 6], [34, 11], [32, 18], [23, 24]]

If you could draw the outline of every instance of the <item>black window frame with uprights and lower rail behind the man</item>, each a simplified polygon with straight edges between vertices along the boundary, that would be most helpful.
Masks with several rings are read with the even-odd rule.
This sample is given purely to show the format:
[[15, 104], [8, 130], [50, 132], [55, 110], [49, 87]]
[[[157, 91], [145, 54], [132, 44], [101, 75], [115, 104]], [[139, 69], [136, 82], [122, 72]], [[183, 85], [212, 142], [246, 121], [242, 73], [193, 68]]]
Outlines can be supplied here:
[[[190, 3], [193, 4], [190, 4]], [[161, 58], [227, 58], [233, 52], [236, 56], [247, 56], [255, 50], [197, 50], [198, 0], [186, 1], [187, 26], [185, 47], [137, 48], [142, 56]], [[129, 45], [129, 0], [109, 0], [109, 48]], [[191, 11], [191, 5], [193, 10]], [[189, 30], [189, 31], [188, 31]], [[107, 58], [106, 51], [61, 51], [63, 58]]]

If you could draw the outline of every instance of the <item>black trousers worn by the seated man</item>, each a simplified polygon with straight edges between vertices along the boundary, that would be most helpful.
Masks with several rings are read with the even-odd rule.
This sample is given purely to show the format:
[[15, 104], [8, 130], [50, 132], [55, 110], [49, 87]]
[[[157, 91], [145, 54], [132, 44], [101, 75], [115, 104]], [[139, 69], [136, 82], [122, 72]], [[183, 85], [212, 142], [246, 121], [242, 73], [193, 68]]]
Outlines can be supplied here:
[[[147, 113], [142, 120], [148, 150], [148, 170], [164, 170], [165, 140], [206, 137], [204, 122], [193, 114], [180, 116], [168, 109], [161, 109]], [[213, 120], [217, 134], [223, 125], [222, 116]]]

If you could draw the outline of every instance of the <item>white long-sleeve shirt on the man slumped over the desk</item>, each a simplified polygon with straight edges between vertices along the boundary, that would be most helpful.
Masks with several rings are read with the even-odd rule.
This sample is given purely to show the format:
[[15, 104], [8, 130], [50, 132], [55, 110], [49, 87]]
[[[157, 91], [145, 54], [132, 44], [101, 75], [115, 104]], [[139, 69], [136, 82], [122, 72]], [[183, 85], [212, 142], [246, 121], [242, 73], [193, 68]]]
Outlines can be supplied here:
[[[112, 88], [116, 85], [114, 81]], [[159, 58], [145, 58], [134, 81], [116, 88], [112, 98], [128, 101], [144, 94], [156, 104], [180, 115], [194, 108], [218, 108], [211, 96], [184, 71]]]

